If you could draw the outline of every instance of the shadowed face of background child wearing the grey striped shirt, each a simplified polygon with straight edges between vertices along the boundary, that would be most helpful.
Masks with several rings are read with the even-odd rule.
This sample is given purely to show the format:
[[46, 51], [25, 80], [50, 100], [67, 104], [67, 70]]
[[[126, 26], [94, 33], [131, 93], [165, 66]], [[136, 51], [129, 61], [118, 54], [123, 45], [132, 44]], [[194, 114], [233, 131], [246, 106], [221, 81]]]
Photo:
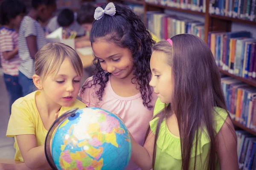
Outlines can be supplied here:
[[38, 7], [38, 17], [41, 22], [47, 22], [51, 17], [53, 12], [56, 10], [56, 6], [46, 6], [41, 5]]

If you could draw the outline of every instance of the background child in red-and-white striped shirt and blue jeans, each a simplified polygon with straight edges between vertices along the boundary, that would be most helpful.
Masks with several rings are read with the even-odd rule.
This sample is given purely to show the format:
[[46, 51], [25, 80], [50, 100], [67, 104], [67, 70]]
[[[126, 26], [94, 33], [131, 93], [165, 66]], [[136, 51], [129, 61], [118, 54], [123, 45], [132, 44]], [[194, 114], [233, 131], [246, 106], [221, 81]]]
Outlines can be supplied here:
[[26, 6], [19, 0], [4, 0], [0, 5], [0, 61], [3, 78], [9, 94], [9, 108], [22, 97], [22, 88], [18, 81], [20, 58], [18, 55], [19, 35], [15, 30], [26, 13]]

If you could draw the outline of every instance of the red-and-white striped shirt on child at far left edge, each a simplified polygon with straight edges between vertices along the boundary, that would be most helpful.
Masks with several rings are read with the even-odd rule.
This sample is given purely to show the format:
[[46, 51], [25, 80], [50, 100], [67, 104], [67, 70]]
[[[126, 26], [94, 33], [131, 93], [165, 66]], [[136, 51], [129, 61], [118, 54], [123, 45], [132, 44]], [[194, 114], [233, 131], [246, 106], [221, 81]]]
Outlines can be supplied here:
[[4, 74], [11, 76], [17, 76], [19, 74], [19, 55], [15, 55], [15, 57], [9, 60], [3, 58], [3, 52], [13, 51], [18, 47], [18, 40], [18, 34], [15, 30], [5, 27], [0, 28], [0, 60]]

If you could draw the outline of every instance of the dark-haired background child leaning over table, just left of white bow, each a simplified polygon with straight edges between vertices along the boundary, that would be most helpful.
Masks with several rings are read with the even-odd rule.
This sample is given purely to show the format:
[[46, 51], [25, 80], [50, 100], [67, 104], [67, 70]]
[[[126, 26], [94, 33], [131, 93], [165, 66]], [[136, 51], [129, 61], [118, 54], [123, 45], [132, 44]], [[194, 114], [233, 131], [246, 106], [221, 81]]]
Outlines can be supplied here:
[[76, 47], [90, 47], [90, 31], [93, 25], [93, 15], [96, 7], [93, 5], [93, 3], [86, 3], [77, 12], [77, 22], [84, 28], [84, 31], [86, 31], [86, 35], [81, 38], [76, 39]]

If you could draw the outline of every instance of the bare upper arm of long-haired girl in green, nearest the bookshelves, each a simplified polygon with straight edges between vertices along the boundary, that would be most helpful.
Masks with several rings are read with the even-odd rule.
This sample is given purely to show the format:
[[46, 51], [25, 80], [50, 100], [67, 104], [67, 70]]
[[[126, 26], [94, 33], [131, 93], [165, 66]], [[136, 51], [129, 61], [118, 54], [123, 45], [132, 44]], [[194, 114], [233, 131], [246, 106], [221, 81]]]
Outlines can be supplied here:
[[221, 170], [239, 170], [236, 132], [229, 117], [216, 135], [216, 144]]

